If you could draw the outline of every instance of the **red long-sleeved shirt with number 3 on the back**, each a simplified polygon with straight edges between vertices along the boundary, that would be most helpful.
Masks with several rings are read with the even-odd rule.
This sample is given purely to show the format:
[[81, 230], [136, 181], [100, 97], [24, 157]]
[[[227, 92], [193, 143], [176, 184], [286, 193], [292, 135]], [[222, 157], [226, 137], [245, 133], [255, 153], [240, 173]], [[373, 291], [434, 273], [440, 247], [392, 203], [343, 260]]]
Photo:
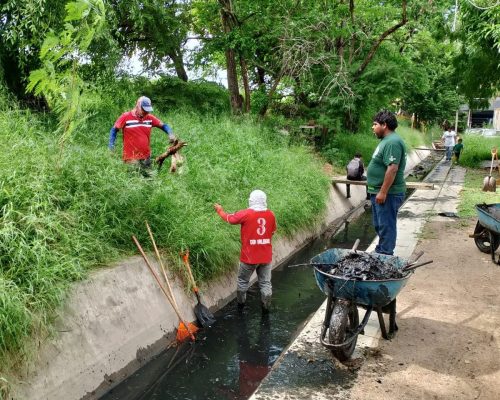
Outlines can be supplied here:
[[251, 208], [227, 214], [218, 212], [230, 224], [241, 225], [240, 261], [245, 264], [269, 264], [273, 259], [271, 239], [276, 231], [276, 218], [271, 210]]

